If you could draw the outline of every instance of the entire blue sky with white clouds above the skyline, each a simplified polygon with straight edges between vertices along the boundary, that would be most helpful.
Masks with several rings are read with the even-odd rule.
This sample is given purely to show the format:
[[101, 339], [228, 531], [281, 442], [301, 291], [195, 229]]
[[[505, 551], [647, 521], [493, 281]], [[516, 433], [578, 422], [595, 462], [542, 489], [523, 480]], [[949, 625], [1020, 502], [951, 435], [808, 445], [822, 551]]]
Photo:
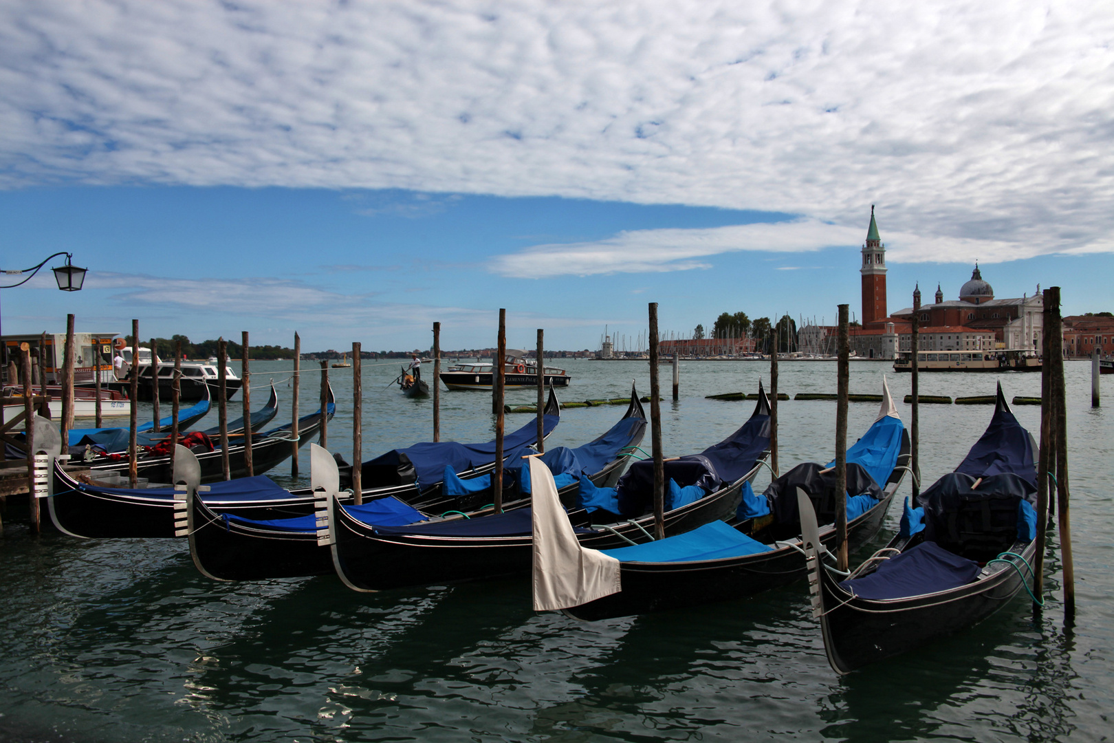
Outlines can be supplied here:
[[[3, 333], [628, 348], [977, 260], [1114, 310], [1114, 13], [1034, 2], [0, 3]], [[57, 265], [50, 262], [47, 267]], [[4, 277], [2, 285], [13, 283]], [[53, 287], [53, 289], [52, 289]]]

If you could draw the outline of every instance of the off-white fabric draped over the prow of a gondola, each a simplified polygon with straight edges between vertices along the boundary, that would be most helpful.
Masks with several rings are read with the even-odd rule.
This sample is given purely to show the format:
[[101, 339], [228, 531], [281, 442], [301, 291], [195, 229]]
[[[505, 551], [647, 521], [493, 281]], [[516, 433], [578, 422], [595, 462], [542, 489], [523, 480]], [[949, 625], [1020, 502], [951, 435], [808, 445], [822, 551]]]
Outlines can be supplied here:
[[578, 606], [622, 590], [619, 561], [580, 546], [557, 497], [553, 472], [530, 457], [534, 517], [534, 610]]

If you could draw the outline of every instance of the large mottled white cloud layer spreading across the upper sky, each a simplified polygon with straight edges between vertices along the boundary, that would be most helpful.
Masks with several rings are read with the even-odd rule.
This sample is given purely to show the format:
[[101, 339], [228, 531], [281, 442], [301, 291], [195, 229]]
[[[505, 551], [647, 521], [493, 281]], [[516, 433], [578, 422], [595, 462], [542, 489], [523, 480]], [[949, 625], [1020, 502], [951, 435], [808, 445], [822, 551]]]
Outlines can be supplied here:
[[[838, 225], [874, 203], [895, 246], [1111, 252], [1112, 35], [1102, 3], [1008, 0], [13, 0], [0, 187], [557, 195]], [[693, 250], [643, 270], [707, 265]]]

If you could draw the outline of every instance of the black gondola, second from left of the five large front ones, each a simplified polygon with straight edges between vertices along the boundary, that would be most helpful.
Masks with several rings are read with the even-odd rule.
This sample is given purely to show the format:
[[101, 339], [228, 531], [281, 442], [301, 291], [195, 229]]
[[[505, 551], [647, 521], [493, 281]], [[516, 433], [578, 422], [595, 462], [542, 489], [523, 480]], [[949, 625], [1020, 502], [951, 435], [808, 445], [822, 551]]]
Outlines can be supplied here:
[[[598, 487], [614, 485], [623, 471], [628, 453], [642, 441], [646, 418], [637, 394], [626, 414], [607, 432], [576, 449], [558, 447], [547, 452], [550, 461], [575, 460], [580, 469], [589, 468], [586, 476]], [[319, 447], [311, 447], [312, 472], [321, 468], [335, 468], [335, 460]], [[512, 452], [508, 463], [520, 465], [521, 450]], [[509, 475], [509, 471], [508, 471]], [[490, 476], [487, 476], [489, 479]], [[340, 482], [339, 473], [336, 476]], [[508, 479], [510, 479], [508, 477]], [[472, 481], [471, 485], [479, 485]], [[515, 482], [514, 487], [520, 487]], [[565, 496], [575, 499], [579, 480], [565, 486]], [[510, 492], [508, 489], [506, 492]], [[488, 483], [487, 498], [490, 498]], [[345, 498], [345, 500], [348, 500]], [[514, 509], [529, 504], [519, 497], [507, 504]], [[460, 504], [450, 504], [460, 505]], [[360, 506], [344, 505], [349, 516], [377, 526], [402, 526], [420, 521], [472, 519], [490, 514], [490, 507], [463, 514], [452, 510], [419, 511], [391, 496], [371, 498]], [[189, 550], [194, 565], [204, 575], [217, 580], [255, 580], [333, 573], [333, 560], [328, 544], [319, 545], [317, 519], [313, 515], [302, 518], [253, 520], [237, 515], [218, 512], [205, 498], [190, 498], [187, 502], [189, 519]]]

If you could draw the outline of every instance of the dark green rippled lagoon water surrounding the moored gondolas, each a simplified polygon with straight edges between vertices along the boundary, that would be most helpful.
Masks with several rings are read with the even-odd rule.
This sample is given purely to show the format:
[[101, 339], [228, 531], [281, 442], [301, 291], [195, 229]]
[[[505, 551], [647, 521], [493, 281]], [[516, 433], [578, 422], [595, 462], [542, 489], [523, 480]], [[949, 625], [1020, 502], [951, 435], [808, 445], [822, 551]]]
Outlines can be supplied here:
[[[569, 400], [648, 389], [646, 362], [568, 361]], [[290, 414], [290, 362], [255, 362]], [[424, 370], [427, 374], [431, 370]], [[851, 364], [851, 391], [877, 393], [888, 364]], [[316, 370], [302, 412], [316, 408]], [[330, 369], [339, 412], [330, 449], [352, 459], [350, 369]], [[364, 366], [364, 457], [428, 440], [430, 400]], [[753, 403], [705, 394], [754, 391], [766, 362], [682, 363], [681, 401], [663, 407], [667, 454], [719, 441]], [[782, 362], [781, 389], [834, 392], [833, 362]], [[670, 369], [662, 368], [668, 383]], [[895, 398], [909, 377], [889, 373]], [[922, 374], [922, 394], [1039, 394], [1038, 374]], [[1104, 383], [1114, 378], [1107, 377]], [[1102, 741], [1114, 714], [1114, 531], [1110, 408], [1089, 408], [1089, 364], [1067, 364], [1077, 619], [1065, 627], [1059, 557], [1034, 617], [1017, 598], [981, 625], [919, 652], [837, 677], [798, 583], [752, 599], [582, 624], [535, 614], [526, 578], [356, 594], [332, 576], [218, 584], [184, 540], [0, 540], [0, 742], [76, 741]], [[667, 387], [665, 389], [668, 389]], [[1106, 383], [1114, 405], [1114, 389]], [[532, 401], [508, 392], [510, 404]], [[237, 398], [238, 400], [238, 398]], [[648, 407], [647, 407], [648, 408]], [[909, 407], [898, 405], [906, 423]], [[849, 433], [877, 404], [852, 403]], [[782, 402], [782, 468], [828, 460], [834, 402]], [[952, 469], [989, 405], [922, 405], [926, 482]], [[1038, 430], [1039, 409], [1016, 407]], [[577, 446], [623, 408], [564, 411], [551, 446]], [[211, 416], [215, 419], [215, 413]], [[508, 416], [508, 430], [529, 416]], [[203, 422], [199, 428], [211, 424]], [[442, 436], [494, 431], [490, 398], [442, 393]], [[648, 444], [648, 436], [647, 436]], [[303, 450], [303, 469], [307, 469]], [[272, 472], [284, 485], [289, 462]], [[755, 490], [765, 487], [760, 475]], [[909, 492], [908, 480], [899, 496]], [[877, 548], [897, 527], [895, 506]]]

